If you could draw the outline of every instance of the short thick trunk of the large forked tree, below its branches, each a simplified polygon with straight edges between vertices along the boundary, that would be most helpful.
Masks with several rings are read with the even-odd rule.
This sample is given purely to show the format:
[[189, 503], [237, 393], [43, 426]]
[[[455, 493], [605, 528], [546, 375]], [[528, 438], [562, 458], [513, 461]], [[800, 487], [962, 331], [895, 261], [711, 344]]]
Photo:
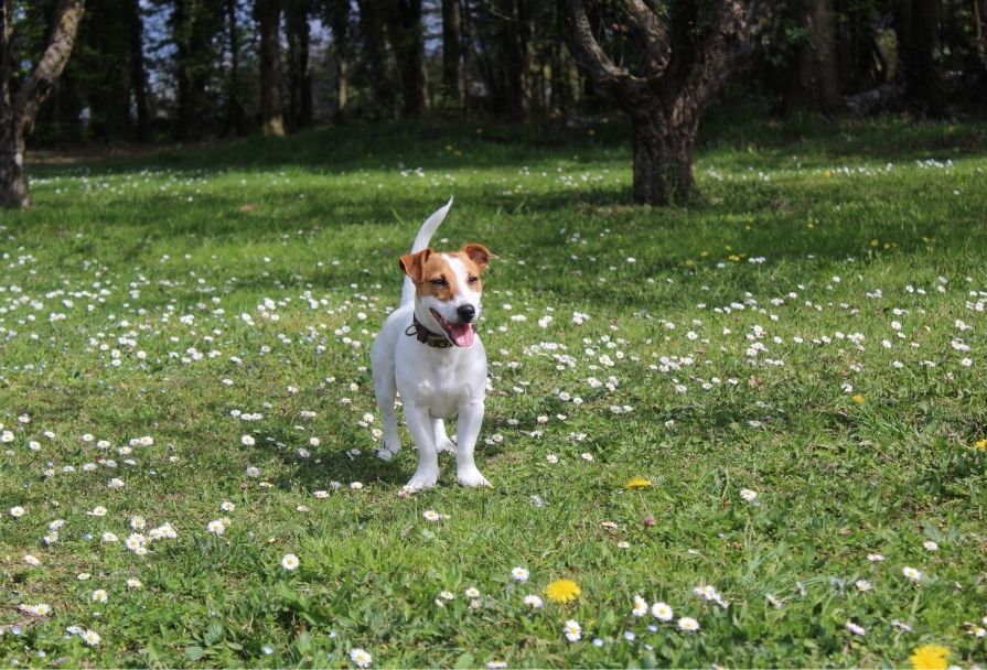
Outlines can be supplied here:
[[696, 123], [684, 119], [678, 123], [663, 118], [661, 107], [652, 114], [631, 116], [635, 203], [648, 205], [688, 204], [699, 197], [693, 177], [693, 147]]

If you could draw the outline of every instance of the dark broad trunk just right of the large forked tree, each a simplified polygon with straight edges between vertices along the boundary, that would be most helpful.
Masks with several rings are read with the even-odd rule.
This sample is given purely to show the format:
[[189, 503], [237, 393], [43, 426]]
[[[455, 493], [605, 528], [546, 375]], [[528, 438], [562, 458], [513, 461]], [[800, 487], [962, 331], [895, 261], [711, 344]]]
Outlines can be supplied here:
[[788, 0], [788, 7], [807, 39], [792, 64], [785, 90], [785, 110], [817, 109], [833, 114], [843, 108], [839, 62], [832, 0]]

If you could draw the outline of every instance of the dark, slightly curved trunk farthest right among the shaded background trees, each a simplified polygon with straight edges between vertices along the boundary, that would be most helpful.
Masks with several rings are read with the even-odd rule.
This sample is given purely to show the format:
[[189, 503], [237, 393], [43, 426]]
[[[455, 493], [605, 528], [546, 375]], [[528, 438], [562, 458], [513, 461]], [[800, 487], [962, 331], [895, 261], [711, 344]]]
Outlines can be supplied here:
[[899, 0], [894, 19], [905, 98], [930, 117], [946, 116], [946, 97], [934, 60], [940, 0]]

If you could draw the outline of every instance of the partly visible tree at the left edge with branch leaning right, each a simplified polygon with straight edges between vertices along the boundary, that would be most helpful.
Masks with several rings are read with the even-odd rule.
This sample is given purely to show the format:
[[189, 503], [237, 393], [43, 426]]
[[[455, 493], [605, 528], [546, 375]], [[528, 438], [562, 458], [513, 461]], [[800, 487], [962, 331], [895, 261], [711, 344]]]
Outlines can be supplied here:
[[60, 2], [44, 53], [15, 89], [13, 77], [19, 63], [13, 52], [13, 0], [0, 0], [0, 206], [31, 205], [24, 174], [25, 140], [39, 107], [65, 69], [84, 7], [84, 0]]

